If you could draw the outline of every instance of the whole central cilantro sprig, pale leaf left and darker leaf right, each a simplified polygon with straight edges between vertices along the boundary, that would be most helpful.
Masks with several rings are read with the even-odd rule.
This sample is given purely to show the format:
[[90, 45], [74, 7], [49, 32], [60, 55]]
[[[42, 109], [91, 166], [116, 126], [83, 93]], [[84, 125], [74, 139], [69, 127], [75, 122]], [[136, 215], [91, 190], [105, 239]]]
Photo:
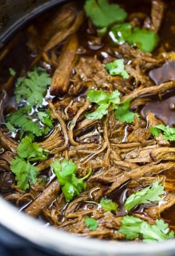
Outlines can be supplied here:
[[113, 110], [115, 110], [115, 117], [120, 122], [134, 122], [134, 116], [139, 118], [138, 113], [130, 112], [130, 99], [120, 103], [120, 93], [118, 90], [113, 91], [111, 94], [107, 94], [100, 90], [90, 90], [87, 93], [89, 102], [97, 103], [99, 107], [92, 113], [87, 113], [85, 116], [87, 119], [101, 119], [103, 115], [107, 115], [110, 104], [112, 104]]

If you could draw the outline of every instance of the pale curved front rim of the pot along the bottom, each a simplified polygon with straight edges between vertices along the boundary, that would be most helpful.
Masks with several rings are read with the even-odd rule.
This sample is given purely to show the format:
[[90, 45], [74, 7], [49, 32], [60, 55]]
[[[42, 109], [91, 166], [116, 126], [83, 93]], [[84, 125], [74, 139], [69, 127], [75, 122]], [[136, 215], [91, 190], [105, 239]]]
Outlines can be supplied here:
[[0, 224], [40, 247], [67, 255], [167, 255], [175, 249], [174, 239], [147, 244], [85, 238], [43, 225], [41, 221], [19, 212], [3, 198], [0, 198], [0, 206]]

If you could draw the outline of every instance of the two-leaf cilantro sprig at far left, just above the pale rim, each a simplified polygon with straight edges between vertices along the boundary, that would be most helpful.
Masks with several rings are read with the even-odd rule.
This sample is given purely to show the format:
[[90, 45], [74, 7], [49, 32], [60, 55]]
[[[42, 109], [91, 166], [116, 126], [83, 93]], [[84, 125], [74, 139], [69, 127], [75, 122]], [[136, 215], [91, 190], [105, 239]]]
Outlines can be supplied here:
[[45, 160], [48, 150], [41, 149], [37, 143], [32, 143], [30, 137], [26, 136], [18, 145], [18, 156], [10, 163], [11, 171], [20, 189], [29, 189], [29, 184], [37, 182], [38, 167], [31, 165], [30, 161]]

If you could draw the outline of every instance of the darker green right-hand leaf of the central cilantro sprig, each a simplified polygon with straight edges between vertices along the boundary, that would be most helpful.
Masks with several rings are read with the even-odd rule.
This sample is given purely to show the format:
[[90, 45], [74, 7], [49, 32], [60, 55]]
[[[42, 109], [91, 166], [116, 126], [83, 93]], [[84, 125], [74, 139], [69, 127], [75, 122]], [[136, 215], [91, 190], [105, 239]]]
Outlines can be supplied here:
[[139, 114], [130, 111], [130, 98], [127, 98], [124, 102], [120, 104], [115, 110], [115, 117], [120, 122], [132, 123], [134, 122], [134, 117], [139, 119]]

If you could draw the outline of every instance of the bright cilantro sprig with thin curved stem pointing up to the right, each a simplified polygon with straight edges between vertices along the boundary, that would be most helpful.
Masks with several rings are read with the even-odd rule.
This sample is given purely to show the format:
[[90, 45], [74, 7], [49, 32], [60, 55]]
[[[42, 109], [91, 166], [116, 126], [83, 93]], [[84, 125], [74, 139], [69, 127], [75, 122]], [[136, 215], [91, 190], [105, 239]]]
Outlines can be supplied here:
[[77, 166], [72, 161], [64, 159], [63, 161], [55, 160], [51, 167], [55, 172], [56, 177], [61, 185], [61, 190], [65, 195], [66, 202], [72, 201], [73, 197], [79, 195], [82, 190], [87, 188], [87, 184], [84, 182], [90, 174], [92, 169], [83, 178], [77, 178], [75, 173], [77, 172]]

